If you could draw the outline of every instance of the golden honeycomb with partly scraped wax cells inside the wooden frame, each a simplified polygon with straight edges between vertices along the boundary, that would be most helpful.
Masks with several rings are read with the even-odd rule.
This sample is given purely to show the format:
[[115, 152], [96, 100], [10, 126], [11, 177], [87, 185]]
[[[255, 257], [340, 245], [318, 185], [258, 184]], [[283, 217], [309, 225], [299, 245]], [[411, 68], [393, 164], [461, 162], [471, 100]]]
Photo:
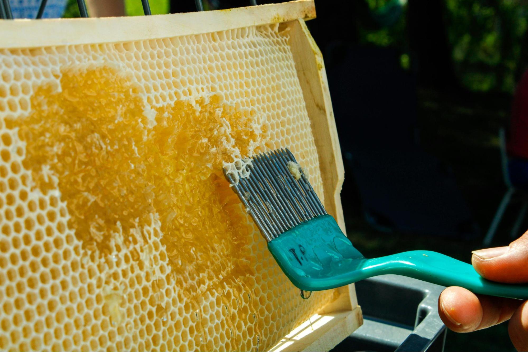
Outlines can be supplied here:
[[0, 50], [0, 78], [0, 349], [268, 350], [336, 298], [222, 174], [288, 147], [323, 197], [278, 25]]

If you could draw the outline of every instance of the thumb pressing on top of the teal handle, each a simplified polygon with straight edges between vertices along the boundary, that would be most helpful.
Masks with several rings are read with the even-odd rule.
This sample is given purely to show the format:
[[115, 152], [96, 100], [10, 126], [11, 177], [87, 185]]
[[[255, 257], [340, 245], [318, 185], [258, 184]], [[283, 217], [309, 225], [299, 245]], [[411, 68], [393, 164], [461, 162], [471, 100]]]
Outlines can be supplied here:
[[528, 282], [528, 231], [509, 246], [474, 251], [472, 263], [485, 279], [505, 283]]

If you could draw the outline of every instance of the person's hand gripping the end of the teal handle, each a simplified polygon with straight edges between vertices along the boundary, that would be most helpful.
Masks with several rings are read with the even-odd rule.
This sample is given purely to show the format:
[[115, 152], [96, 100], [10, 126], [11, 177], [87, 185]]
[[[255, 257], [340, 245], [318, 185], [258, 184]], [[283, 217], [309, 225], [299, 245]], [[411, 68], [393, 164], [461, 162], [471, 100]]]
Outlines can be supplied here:
[[[472, 263], [484, 278], [496, 282], [528, 282], [528, 232], [506, 247], [473, 252]], [[448, 287], [438, 299], [444, 324], [456, 332], [471, 332], [510, 319], [508, 333], [517, 350], [528, 350], [528, 301], [474, 294]]]

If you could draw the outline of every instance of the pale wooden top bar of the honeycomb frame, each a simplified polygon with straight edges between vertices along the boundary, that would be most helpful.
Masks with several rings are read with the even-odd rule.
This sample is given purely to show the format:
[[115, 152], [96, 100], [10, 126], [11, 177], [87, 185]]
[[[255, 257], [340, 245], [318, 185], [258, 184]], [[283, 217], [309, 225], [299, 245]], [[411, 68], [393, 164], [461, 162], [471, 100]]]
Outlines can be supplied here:
[[315, 18], [314, 0], [168, 15], [0, 20], [0, 49], [116, 43]]

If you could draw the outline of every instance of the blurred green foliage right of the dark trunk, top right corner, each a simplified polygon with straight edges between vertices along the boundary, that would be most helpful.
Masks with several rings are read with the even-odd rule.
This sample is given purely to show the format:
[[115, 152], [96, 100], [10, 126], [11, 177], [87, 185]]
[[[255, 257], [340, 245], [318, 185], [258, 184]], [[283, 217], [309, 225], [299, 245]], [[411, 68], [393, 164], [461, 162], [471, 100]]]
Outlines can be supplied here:
[[447, 33], [461, 82], [477, 91], [512, 92], [525, 64], [526, 6], [513, 0], [447, 0], [446, 5]]

